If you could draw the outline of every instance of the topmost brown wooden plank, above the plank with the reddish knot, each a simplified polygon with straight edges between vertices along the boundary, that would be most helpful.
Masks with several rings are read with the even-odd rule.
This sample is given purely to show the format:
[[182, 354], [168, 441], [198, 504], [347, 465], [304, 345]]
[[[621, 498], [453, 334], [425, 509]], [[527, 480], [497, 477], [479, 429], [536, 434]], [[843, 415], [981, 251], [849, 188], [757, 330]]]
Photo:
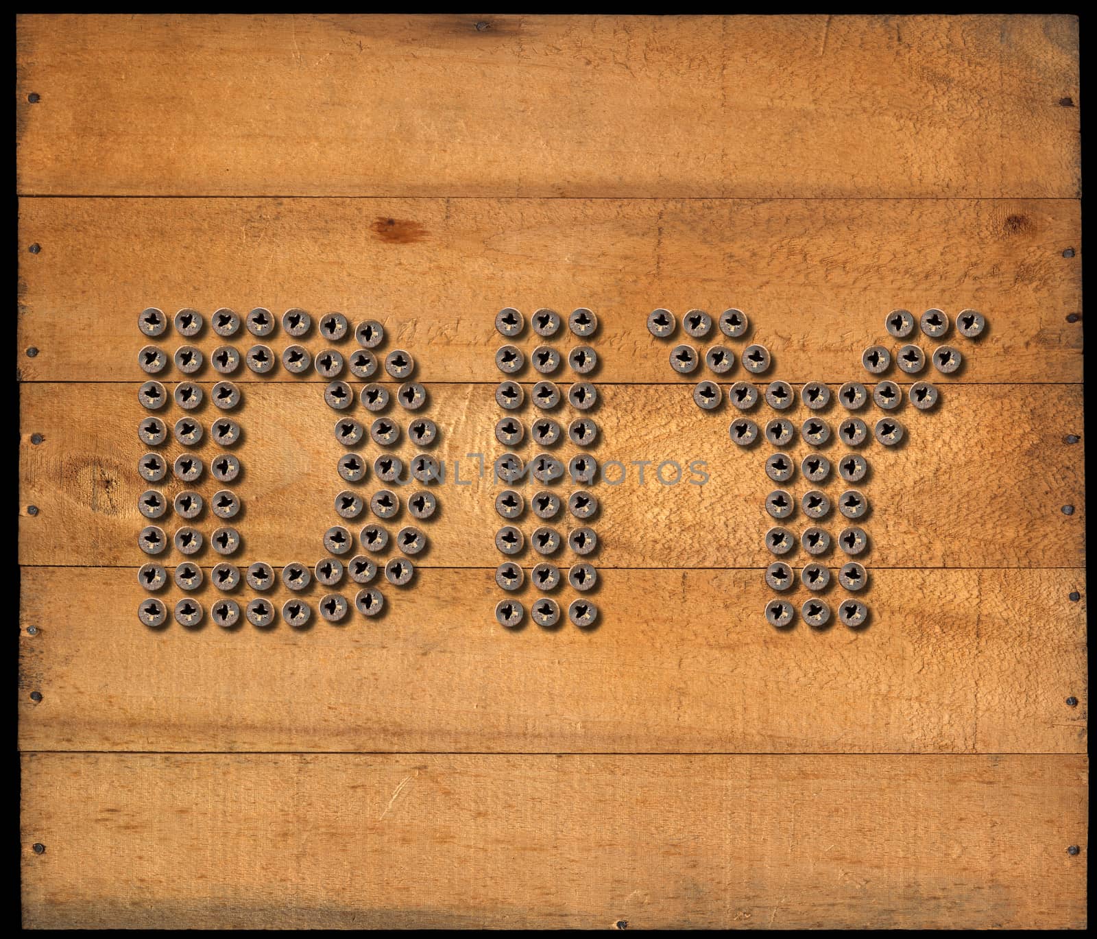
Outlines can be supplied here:
[[18, 22], [21, 193], [1079, 194], [1076, 16]]

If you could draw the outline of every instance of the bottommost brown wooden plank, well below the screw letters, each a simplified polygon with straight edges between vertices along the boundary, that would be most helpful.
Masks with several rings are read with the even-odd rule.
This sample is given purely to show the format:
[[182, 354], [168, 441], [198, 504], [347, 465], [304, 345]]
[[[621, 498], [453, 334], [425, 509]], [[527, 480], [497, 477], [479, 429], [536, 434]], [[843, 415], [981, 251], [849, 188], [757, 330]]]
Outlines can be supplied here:
[[1047, 756], [32, 754], [23, 925], [1085, 928], [1087, 776]]

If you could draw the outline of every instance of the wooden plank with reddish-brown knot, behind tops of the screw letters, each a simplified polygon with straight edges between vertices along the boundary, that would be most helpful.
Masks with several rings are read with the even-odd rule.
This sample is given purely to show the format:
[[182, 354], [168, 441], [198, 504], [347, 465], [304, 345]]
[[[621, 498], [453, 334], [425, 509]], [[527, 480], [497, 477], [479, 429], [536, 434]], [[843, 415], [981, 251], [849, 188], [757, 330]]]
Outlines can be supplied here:
[[[20, 210], [29, 381], [137, 374], [137, 316], [150, 305], [376, 318], [428, 378], [456, 382], [498, 380], [502, 306], [593, 309], [611, 382], [674, 380], [670, 343], [644, 328], [654, 307], [738, 306], [780, 377], [839, 383], [863, 374], [867, 346], [897, 347], [883, 328], [891, 309], [974, 307], [991, 326], [977, 344], [955, 338], [969, 353], [959, 380], [1082, 381], [1082, 324], [1066, 319], [1082, 303], [1076, 201], [24, 199]], [[197, 344], [222, 341], [207, 329]]]

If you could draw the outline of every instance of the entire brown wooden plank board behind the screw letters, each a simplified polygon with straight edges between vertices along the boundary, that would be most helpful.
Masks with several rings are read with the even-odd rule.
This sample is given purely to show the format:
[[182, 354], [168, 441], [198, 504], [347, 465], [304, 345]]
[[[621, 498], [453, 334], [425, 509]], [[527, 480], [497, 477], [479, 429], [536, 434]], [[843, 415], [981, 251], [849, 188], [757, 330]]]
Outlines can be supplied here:
[[[23, 925], [1084, 928], [1078, 57], [1060, 15], [21, 16]], [[377, 620], [147, 630], [149, 305], [380, 319], [466, 470], [495, 313], [588, 306], [599, 459], [711, 482], [596, 487], [590, 631], [494, 622], [479, 482]], [[986, 315], [866, 448], [866, 629], [766, 625], [770, 448], [692, 405], [656, 306], [740, 307], [767, 381], [833, 387], [894, 307]], [[336, 415], [236, 378], [237, 559], [312, 564]]]

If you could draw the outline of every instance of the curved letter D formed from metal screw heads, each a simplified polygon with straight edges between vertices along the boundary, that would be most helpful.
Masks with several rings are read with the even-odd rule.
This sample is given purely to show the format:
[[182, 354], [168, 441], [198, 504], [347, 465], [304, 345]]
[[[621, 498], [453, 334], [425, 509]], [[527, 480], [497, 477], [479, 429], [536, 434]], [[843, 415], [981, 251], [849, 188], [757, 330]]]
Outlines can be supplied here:
[[[191, 339], [200, 336], [206, 327], [205, 318], [195, 309], [181, 309], [173, 318], [162, 310], [149, 307], [138, 317], [138, 327], [147, 337], [159, 337], [167, 332], [169, 326], [181, 337]], [[281, 317], [283, 331], [293, 339], [299, 339], [313, 329], [313, 318], [304, 309], [292, 308]], [[208, 323], [210, 329], [217, 336], [229, 338], [240, 332], [241, 328], [255, 337], [265, 338], [274, 333], [278, 318], [264, 307], [256, 307], [247, 316], [240, 317], [231, 309], [217, 309]], [[349, 338], [350, 323], [340, 313], [329, 313], [319, 317], [316, 331], [321, 339], [332, 343]], [[393, 350], [383, 363], [385, 373], [403, 382], [395, 394], [389, 395], [388, 388], [381, 384], [367, 384], [360, 392], [351, 388], [340, 376], [346, 369], [354, 377], [369, 380], [378, 372], [378, 362], [371, 351], [377, 348], [385, 338], [384, 328], [375, 320], [365, 320], [353, 330], [353, 337], [360, 348], [346, 354], [336, 349], [325, 349], [317, 353], [315, 360], [312, 353], [299, 344], [290, 344], [281, 353], [265, 344], [255, 344], [247, 350], [234, 346], [220, 346], [210, 355], [210, 365], [220, 375], [230, 375], [246, 365], [256, 374], [271, 372], [278, 361], [292, 374], [302, 374], [315, 367], [317, 374], [329, 380], [324, 388], [324, 399], [333, 410], [344, 411], [355, 400], [373, 415], [383, 411], [395, 398], [407, 411], [418, 411], [427, 404], [426, 388], [410, 381], [415, 370], [411, 355], [404, 350]], [[191, 344], [179, 347], [171, 354], [156, 346], [146, 346], [138, 353], [138, 364], [148, 374], [157, 374], [168, 367], [169, 361], [184, 375], [197, 373], [205, 364], [203, 353]], [[158, 411], [168, 404], [167, 392], [158, 381], [149, 380], [142, 385], [138, 395], [142, 404], [150, 411]], [[227, 380], [216, 382], [207, 391], [194, 381], [183, 381], [173, 389], [174, 404], [188, 414], [173, 428], [172, 437], [184, 448], [195, 448], [203, 440], [212, 441], [218, 446], [231, 448], [241, 437], [239, 425], [227, 417], [220, 417], [208, 426], [208, 433], [197, 419], [203, 404], [208, 399], [223, 411], [231, 411], [241, 401], [241, 393], [237, 385]], [[438, 437], [438, 428], [429, 418], [409, 415], [412, 419], [407, 426], [406, 439], [416, 446], [429, 448]], [[160, 446], [168, 441], [168, 429], [159, 417], [150, 416], [142, 421], [138, 434], [149, 446]], [[340, 415], [335, 423], [335, 435], [340, 443], [352, 450], [365, 439], [365, 429], [349, 415]], [[376, 416], [370, 427], [370, 438], [378, 446], [392, 448], [400, 439], [400, 426], [392, 417]], [[172, 468], [178, 480], [188, 484], [185, 490], [171, 500], [174, 512], [184, 520], [195, 520], [208, 510], [218, 519], [231, 519], [241, 510], [238, 496], [229, 489], [219, 489], [204, 497], [192, 488], [205, 473], [205, 463], [193, 450], [184, 450], [176, 457]], [[425, 486], [439, 478], [439, 465], [433, 456], [418, 453], [408, 464], [410, 476]], [[364, 459], [357, 452], [348, 452], [338, 462], [337, 470], [343, 483], [360, 483], [365, 479]], [[158, 483], [167, 476], [168, 459], [159, 452], [146, 453], [138, 463], [138, 472], [149, 483]], [[219, 483], [231, 483], [241, 473], [240, 461], [231, 453], [218, 453], [210, 463], [211, 475]], [[403, 484], [406, 478], [404, 461], [392, 451], [385, 451], [374, 463], [374, 475], [378, 482]], [[169, 500], [159, 490], [146, 490], [138, 509], [149, 519], [158, 519], [168, 511]], [[370, 499], [371, 511], [377, 518], [394, 518], [400, 510], [398, 497], [389, 489], [381, 489]], [[425, 521], [433, 516], [438, 508], [437, 496], [423, 488], [411, 493], [406, 502], [407, 512], [416, 521]], [[342, 488], [336, 496], [335, 510], [342, 520], [357, 518], [364, 511], [365, 501], [361, 495], [351, 488]], [[246, 582], [252, 590], [263, 592], [270, 590], [281, 579], [282, 586], [299, 593], [309, 587], [314, 573], [318, 585], [336, 587], [346, 579], [360, 585], [353, 600], [355, 609], [365, 616], [376, 616], [385, 606], [382, 592], [371, 586], [378, 573], [378, 563], [384, 577], [395, 586], [406, 586], [415, 575], [415, 566], [410, 555], [420, 554], [427, 547], [426, 535], [415, 524], [405, 525], [389, 539], [387, 530], [380, 525], [367, 524], [360, 534], [363, 548], [373, 555], [385, 551], [392, 543], [400, 550], [402, 556], [392, 557], [387, 562], [374, 561], [360, 554], [346, 564], [336, 555], [348, 553], [353, 546], [350, 532], [340, 524], [332, 525], [324, 534], [324, 548], [329, 555], [321, 558], [314, 568], [301, 563], [285, 565], [275, 576], [274, 569], [264, 562], [251, 564], [241, 578], [240, 568], [222, 563], [216, 565], [211, 574], [210, 586], [222, 595], [229, 593]], [[158, 555], [168, 547], [168, 536], [157, 525], [147, 525], [138, 538], [140, 547], [149, 555]], [[203, 533], [185, 525], [179, 529], [172, 542], [176, 548], [190, 557], [197, 554], [204, 543]], [[208, 540], [210, 545], [220, 554], [231, 555], [240, 547], [240, 536], [235, 528], [223, 525], [214, 531]], [[169, 582], [168, 570], [156, 563], [145, 564], [138, 572], [142, 586], [154, 593], [165, 588]], [[194, 563], [180, 564], [172, 574], [171, 580], [184, 591], [194, 591], [202, 587], [205, 578], [200, 565]], [[329, 622], [340, 622], [350, 609], [347, 598], [339, 593], [328, 593], [318, 602], [319, 614]], [[174, 619], [184, 626], [197, 626], [203, 622], [205, 610], [193, 596], [185, 597], [176, 603]], [[231, 627], [240, 622], [240, 604], [229, 597], [222, 596], [212, 603], [211, 618], [218, 625]], [[244, 609], [244, 616], [256, 626], [270, 626], [278, 615], [275, 604], [265, 597], [255, 597]], [[305, 626], [313, 614], [313, 609], [303, 597], [286, 601], [281, 609], [282, 619], [291, 626]], [[167, 606], [156, 597], [147, 598], [138, 609], [138, 618], [148, 626], [161, 626], [168, 620]]]

